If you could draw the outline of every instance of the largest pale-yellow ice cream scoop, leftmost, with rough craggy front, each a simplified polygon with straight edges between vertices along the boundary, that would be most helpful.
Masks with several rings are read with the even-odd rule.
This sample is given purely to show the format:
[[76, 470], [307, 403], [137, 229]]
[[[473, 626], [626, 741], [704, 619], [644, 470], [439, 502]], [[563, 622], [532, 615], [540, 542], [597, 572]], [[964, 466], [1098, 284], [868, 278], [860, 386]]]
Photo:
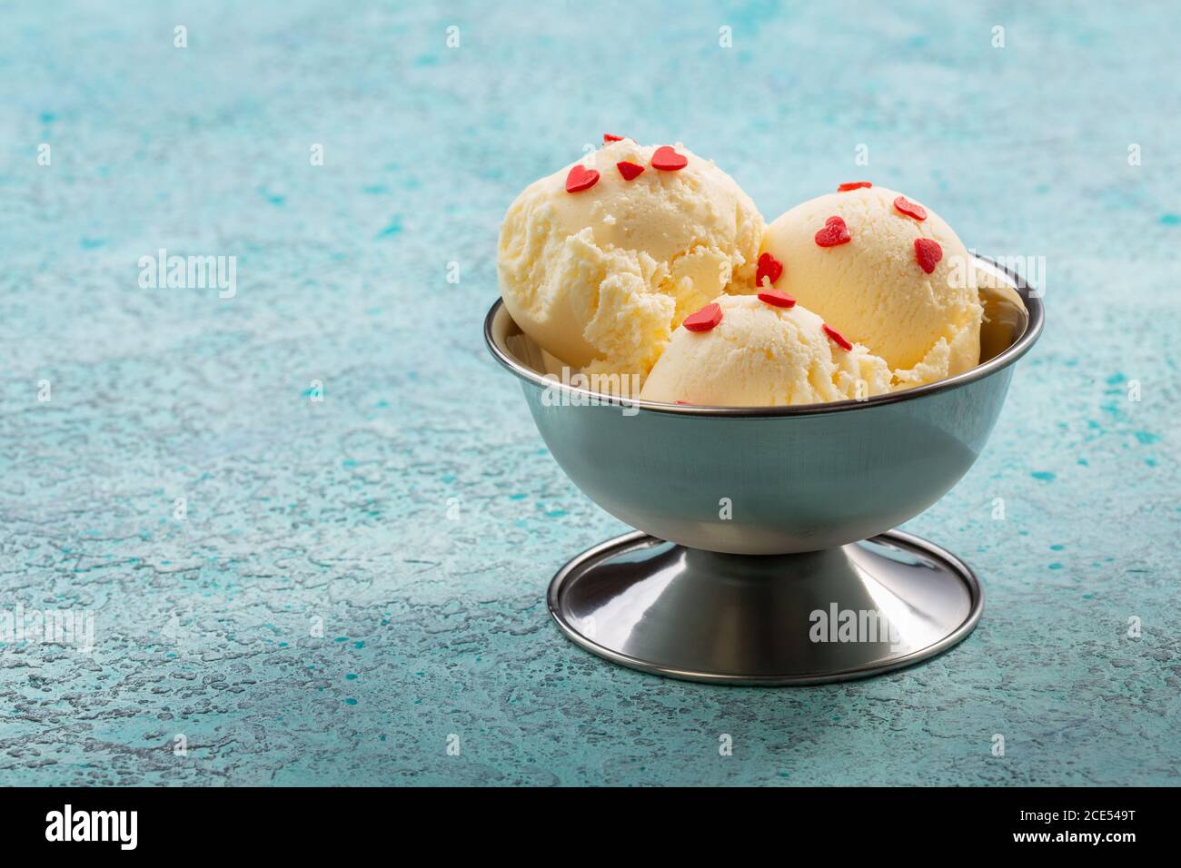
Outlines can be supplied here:
[[501, 295], [559, 359], [642, 377], [687, 314], [753, 285], [763, 229], [712, 161], [612, 142], [517, 196], [501, 226]]

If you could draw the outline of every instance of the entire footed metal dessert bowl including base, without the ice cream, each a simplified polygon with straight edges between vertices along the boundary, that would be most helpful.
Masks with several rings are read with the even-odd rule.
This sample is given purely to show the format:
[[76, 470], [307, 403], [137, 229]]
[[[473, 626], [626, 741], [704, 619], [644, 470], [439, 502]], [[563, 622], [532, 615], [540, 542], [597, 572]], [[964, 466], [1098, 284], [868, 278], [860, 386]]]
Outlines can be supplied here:
[[[663, 674], [792, 684], [898, 668], [971, 632], [983, 607], [971, 569], [890, 529], [972, 466], [1013, 363], [1042, 331], [1036, 292], [987, 260], [976, 267], [990, 285], [980, 291], [977, 367], [805, 406], [619, 400], [555, 383], [521, 352], [527, 339], [502, 302], [492, 305], [489, 350], [520, 378], [550, 453], [590, 500], [644, 531], [583, 553], [555, 576], [550, 611], [567, 635]], [[881, 612], [887, 599], [889, 642], [801, 641], [817, 606]]]

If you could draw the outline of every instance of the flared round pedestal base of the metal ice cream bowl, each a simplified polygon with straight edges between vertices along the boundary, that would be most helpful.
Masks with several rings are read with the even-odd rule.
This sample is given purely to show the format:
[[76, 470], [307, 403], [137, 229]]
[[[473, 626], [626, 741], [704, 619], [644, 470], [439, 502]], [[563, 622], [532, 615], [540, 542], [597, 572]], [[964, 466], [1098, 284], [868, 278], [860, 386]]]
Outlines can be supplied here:
[[823, 684], [932, 658], [976, 627], [984, 594], [948, 552], [900, 530], [835, 549], [732, 555], [642, 531], [562, 567], [549, 612], [613, 663], [715, 684]]

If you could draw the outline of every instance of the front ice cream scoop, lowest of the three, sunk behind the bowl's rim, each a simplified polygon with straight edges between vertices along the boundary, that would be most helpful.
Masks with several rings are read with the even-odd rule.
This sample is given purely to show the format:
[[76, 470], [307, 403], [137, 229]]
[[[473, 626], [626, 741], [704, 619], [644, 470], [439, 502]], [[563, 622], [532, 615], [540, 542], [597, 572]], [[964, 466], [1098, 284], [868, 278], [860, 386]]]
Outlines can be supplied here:
[[679, 328], [640, 392], [645, 400], [715, 406], [783, 406], [868, 398], [890, 389], [886, 363], [866, 347], [844, 350], [824, 321], [800, 305], [755, 295], [715, 299], [722, 320]]

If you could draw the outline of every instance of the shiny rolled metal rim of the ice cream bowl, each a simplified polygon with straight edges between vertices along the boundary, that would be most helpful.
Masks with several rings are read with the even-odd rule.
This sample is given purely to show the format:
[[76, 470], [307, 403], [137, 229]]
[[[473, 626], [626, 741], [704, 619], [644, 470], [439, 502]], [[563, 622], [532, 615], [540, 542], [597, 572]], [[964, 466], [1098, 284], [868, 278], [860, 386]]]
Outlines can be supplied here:
[[[1022, 335], [1014, 340], [1009, 347], [997, 353], [994, 357], [985, 361], [983, 365], [977, 365], [976, 367], [965, 371], [964, 373], [955, 374], [954, 377], [947, 377], [946, 379], [937, 380], [934, 383], [928, 383], [922, 386], [915, 386], [914, 389], [905, 389], [900, 392], [888, 392], [886, 394], [876, 394], [872, 398], [866, 398], [863, 400], [849, 399], [849, 400], [836, 400], [826, 404], [796, 404], [789, 406], [776, 406], [776, 407], [759, 407], [759, 406], [709, 406], [704, 404], [665, 404], [663, 402], [644, 400], [642, 398], [620, 398], [611, 394], [605, 394], [602, 392], [593, 392], [589, 389], [581, 389], [579, 386], [572, 386], [569, 384], [562, 383], [554, 379], [553, 376], [547, 376], [537, 373], [536, 371], [526, 367], [511, 355], [509, 355], [504, 350], [502, 350], [496, 339], [492, 337], [492, 324], [496, 320], [496, 314], [504, 306], [503, 299], [496, 299], [492, 306], [488, 309], [487, 316], [484, 316], [484, 341], [488, 344], [488, 350], [491, 352], [492, 358], [495, 358], [502, 366], [508, 368], [510, 372], [516, 374], [520, 379], [531, 383], [541, 389], [556, 389], [562, 393], [570, 396], [579, 396], [576, 400], [570, 402], [576, 405], [582, 404], [601, 404], [607, 406], [619, 406], [626, 407], [628, 410], [635, 407], [641, 411], [654, 412], [654, 413], [667, 413], [670, 416], [709, 416], [709, 417], [727, 417], [727, 418], [777, 418], [782, 416], [824, 416], [828, 413], [843, 413], [853, 412], [856, 410], [869, 410], [870, 407], [883, 406], [886, 404], [896, 404], [906, 400], [918, 400], [919, 398], [925, 398], [927, 396], [934, 394], [937, 392], [948, 392], [953, 389], [960, 389], [963, 386], [976, 383], [977, 380], [991, 377], [992, 374], [1001, 371], [1025, 353], [1030, 351], [1037, 339], [1042, 334], [1042, 326], [1045, 321], [1045, 311], [1042, 305], [1042, 296], [1038, 291], [1025, 281], [1019, 274], [1007, 268], [1006, 266], [997, 262], [996, 260], [983, 256], [978, 253], [972, 253], [972, 256], [980, 262], [987, 263], [991, 268], [996, 269], [1000, 274], [1004, 274], [1010, 282], [1012, 288], [1018, 292], [1022, 296], [1022, 301], [1025, 302], [1025, 311], [1029, 315], [1029, 320], [1025, 324], [1025, 331]], [[520, 328], [520, 326], [518, 326]]]

